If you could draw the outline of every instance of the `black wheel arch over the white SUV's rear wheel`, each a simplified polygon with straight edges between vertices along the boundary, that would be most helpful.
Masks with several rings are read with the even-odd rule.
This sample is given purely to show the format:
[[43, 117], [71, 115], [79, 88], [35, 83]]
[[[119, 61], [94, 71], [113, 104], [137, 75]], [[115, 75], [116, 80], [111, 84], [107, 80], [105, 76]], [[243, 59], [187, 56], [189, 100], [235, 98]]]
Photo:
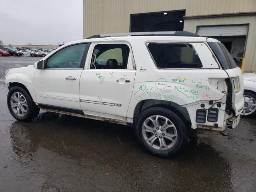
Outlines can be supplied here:
[[133, 115], [133, 122], [135, 125], [137, 123], [139, 114], [151, 107], [162, 107], [169, 109], [172, 112], [176, 113], [182, 119], [186, 126], [191, 125], [190, 116], [188, 114], [188, 110], [185, 107], [182, 107], [179, 104], [176, 104], [175, 102], [155, 99], [142, 100], [138, 102], [134, 109]]

